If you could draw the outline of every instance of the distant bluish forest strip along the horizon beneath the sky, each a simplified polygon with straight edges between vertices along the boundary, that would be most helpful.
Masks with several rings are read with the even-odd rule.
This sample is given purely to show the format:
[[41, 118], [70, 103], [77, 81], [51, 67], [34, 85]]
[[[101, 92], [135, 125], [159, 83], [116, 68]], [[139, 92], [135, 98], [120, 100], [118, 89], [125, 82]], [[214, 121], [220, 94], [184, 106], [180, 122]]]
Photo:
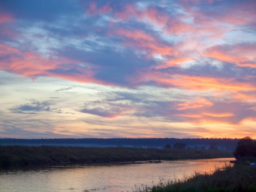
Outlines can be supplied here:
[[67, 139], [13, 139], [0, 138], [0, 145], [56, 145], [56, 146], [95, 146], [95, 147], [135, 147], [135, 148], [175, 148], [177, 143], [186, 149], [234, 151], [239, 139], [231, 138], [67, 138]]

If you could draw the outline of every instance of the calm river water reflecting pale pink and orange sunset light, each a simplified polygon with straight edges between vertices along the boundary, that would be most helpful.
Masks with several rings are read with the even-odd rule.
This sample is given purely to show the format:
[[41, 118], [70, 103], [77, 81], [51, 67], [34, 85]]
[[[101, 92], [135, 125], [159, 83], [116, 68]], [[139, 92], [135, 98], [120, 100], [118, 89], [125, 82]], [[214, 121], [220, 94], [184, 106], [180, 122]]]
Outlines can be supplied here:
[[134, 185], [160, 178], [182, 178], [195, 171], [209, 172], [234, 158], [163, 161], [162, 163], [56, 165], [0, 169], [1, 192], [132, 192]]

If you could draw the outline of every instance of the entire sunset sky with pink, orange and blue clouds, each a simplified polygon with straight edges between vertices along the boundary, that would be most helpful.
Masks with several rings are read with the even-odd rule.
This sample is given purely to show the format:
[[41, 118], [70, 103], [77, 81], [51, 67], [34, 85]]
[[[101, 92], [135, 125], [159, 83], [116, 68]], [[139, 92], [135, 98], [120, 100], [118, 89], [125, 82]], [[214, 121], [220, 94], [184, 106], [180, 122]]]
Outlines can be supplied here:
[[1, 0], [0, 138], [256, 139], [255, 0]]

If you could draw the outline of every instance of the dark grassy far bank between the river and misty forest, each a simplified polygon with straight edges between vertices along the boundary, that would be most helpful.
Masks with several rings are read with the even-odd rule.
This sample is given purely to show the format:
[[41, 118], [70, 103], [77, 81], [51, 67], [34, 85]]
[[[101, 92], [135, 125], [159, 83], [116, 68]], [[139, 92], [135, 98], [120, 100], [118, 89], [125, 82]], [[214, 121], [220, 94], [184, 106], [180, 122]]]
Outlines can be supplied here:
[[50, 164], [59, 162], [107, 163], [147, 160], [210, 159], [233, 157], [228, 151], [93, 148], [68, 146], [0, 146], [0, 165]]

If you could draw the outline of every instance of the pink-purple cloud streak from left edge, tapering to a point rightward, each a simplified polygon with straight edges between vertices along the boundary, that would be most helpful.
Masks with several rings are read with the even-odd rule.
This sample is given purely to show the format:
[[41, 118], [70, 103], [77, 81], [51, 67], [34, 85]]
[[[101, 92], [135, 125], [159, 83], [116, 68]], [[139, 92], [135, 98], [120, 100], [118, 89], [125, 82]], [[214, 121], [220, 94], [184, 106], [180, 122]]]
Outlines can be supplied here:
[[[100, 80], [94, 79], [94, 73], [91, 70], [79, 68], [73, 64], [74, 72], [63, 63], [79, 63], [76, 60], [70, 60], [65, 57], [61, 58], [44, 58], [41, 55], [29, 51], [22, 51], [6, 44], [0, 44], [0, 69], [12, 73], [31, 77], [50, 76], [67, 79], [77, 82], [95, 82], [107, 84]], [[79, 73], [76, 73], [79, 71]]]

